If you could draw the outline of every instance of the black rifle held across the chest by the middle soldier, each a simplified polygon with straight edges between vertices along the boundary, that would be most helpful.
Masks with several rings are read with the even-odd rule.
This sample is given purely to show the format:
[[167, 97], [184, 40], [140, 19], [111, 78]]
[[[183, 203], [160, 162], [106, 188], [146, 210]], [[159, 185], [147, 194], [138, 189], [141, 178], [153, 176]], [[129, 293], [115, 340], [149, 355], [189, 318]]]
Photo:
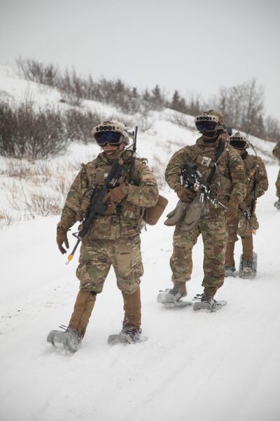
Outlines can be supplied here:
[[204, 201], [204, 196], [206, 196], [215, 208], [218, 208], [218, 206], [225, 208], [223, 203], [218, 201], [213, 190], [211, 190], [210, 183], [202, 177], [202, 174], [197, 169], [196, 163], [188, 161], [185, 168], [183, 168], [181, 175], [184, 187], [200, 193], [200, 201]]

